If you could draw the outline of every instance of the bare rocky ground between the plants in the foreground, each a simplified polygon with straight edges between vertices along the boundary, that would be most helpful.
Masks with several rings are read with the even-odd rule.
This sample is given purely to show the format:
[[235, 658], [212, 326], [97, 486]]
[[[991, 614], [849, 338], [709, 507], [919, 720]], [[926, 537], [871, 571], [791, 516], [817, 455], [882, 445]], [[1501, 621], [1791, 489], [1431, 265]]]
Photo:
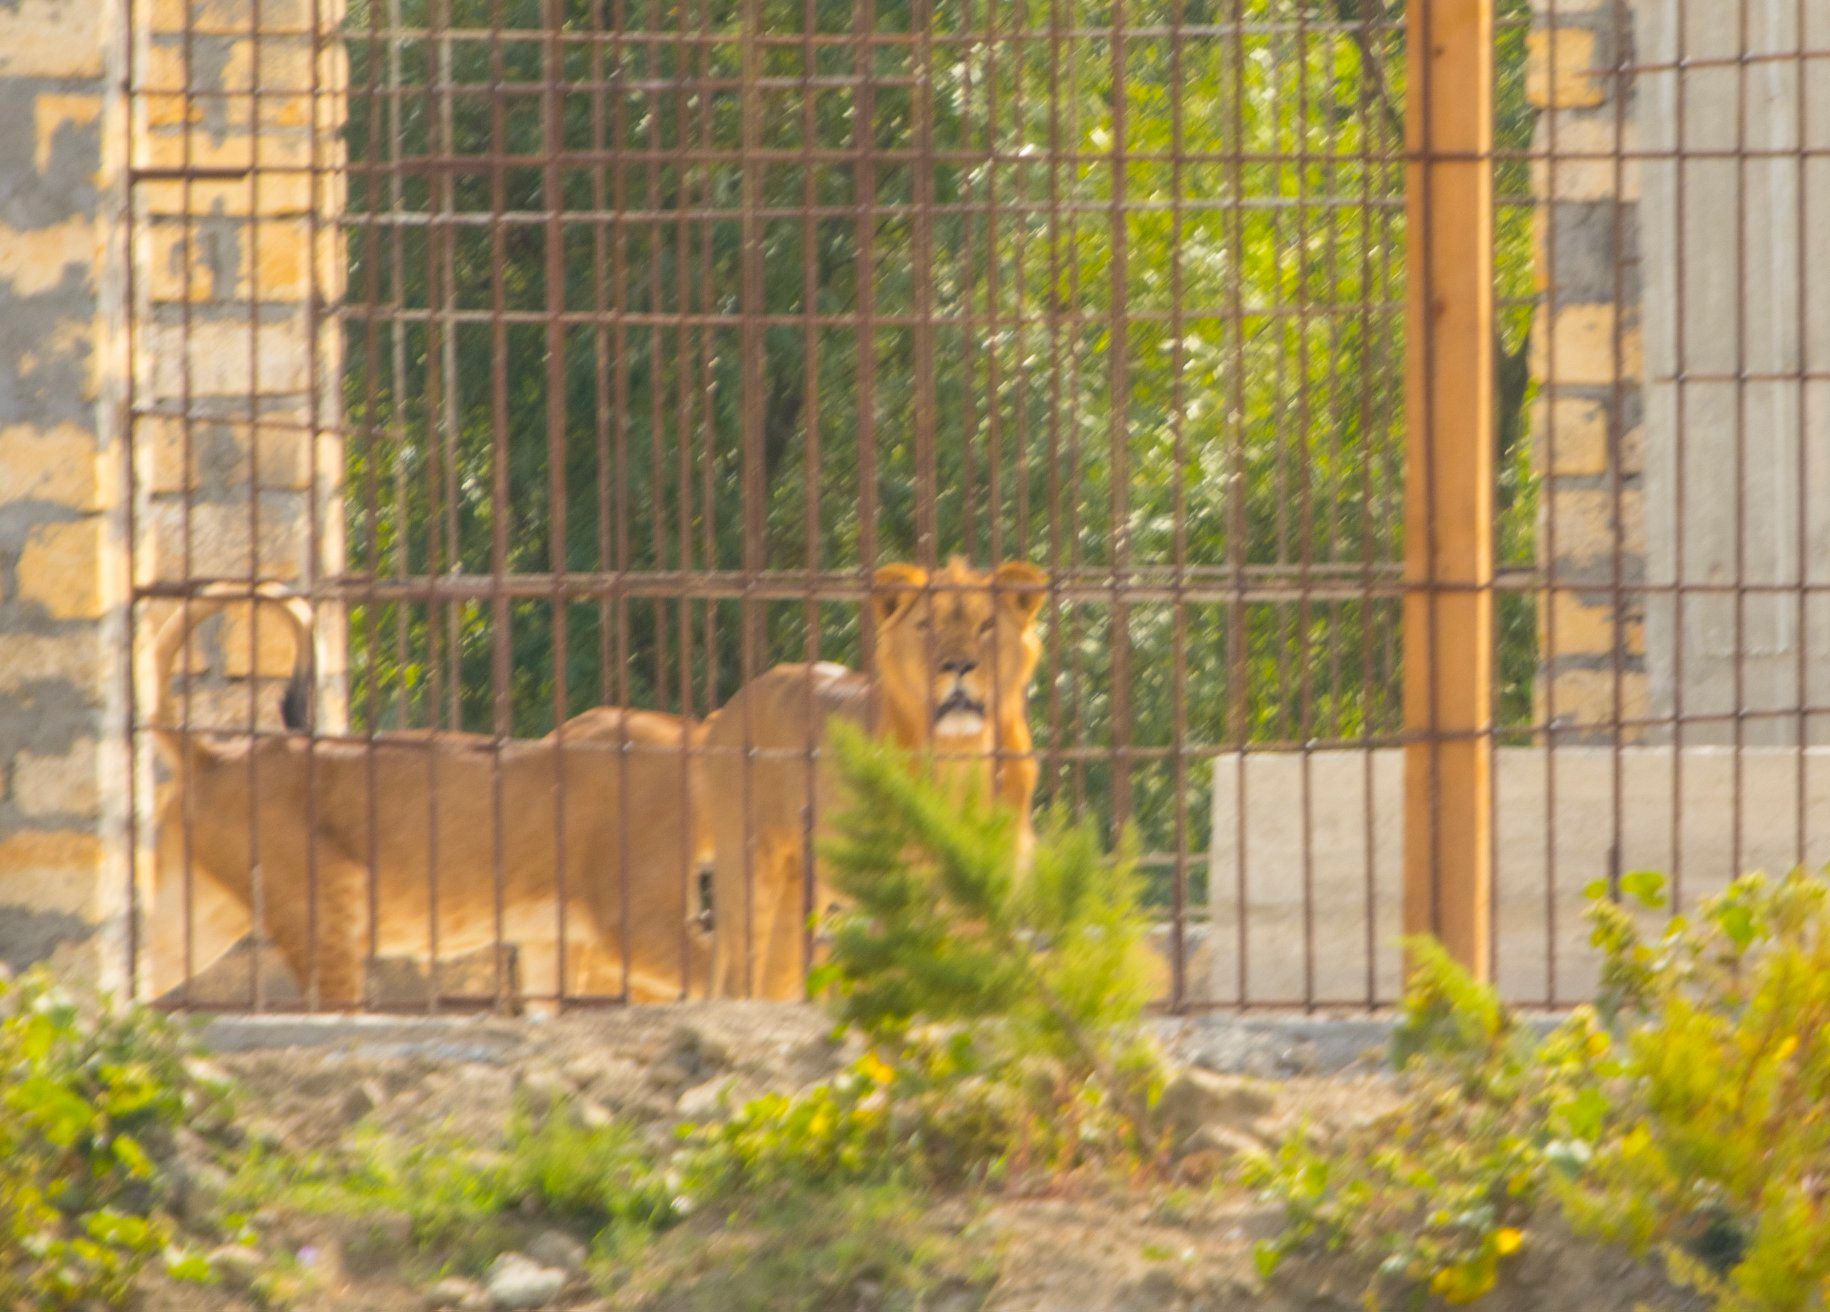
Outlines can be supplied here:
[[[487, 1142], [500, 1136], [518, 1100], [534, 1107], [564, 1102], [569, 1114], [587, 1120], [639, 1124], [661, 1144], [681, 1120], [716, 1118], [748, 1096], [798, 1089], [833, 1074], [851, 1056], [831, 1039], [829, 1023], [814, 1008], [770, 1005], [633, 1008], [547, 1023], [238, 1023], [220, 1028], [214, 1039], [214, 1059], [245, 1091], [242, 1133], [304, 1155], [375, 1133], [426, 1138], [456, 1131]], [[1288, 1036], [1241, 1043], [1235, 1032], [1177, 1025], [1166, 1028], [1166, 1039], [1195, 1069], [1254, 1067], [1266, 1076], [1297, 1070], [1182, 1091], [1186, 1114], [1213, 1122], [1217, 1149], [1228, 1136], [1270, 1142], [1297, 1122], [1340, 1125], [1374, 1116], [1391, 1102], [1376, 1063], [1301, 1072], [1340, 1065], [1340, 1041], [1334, 1059], [1323, 1061], [1325, 1050]], [[1327, 1264], [1294, 1268], [1266, 1288], [1254, 1270], [1252, 1246], [1276, 1231], [1279, 1213], [1239, 1191], [1054, 1186], [1039, 1195], [950, 1197], [924, 1208], [922, 1226], [937, 1242], [957, 1246], [961, 1274], [941, 1281], [922, 1308], [1321, 1312], [1362, 1305], [1362, 1285]], [[690, 1261], [631, 1270], [611, 1288], [602, 1266], [595, 1281], [586, 1277], [578, 1237], [533, 1219], [509, 1252], [470, 1279], [415, 1255], [404, 1217], [355, 1222], [267, 1208], [254, 1222], [265, 1237], [260, 1255], [221, 1252], [223, 1281], [207, 1290], [154, 1281], [145, 1307], [229, 1312], [282, 1297], [295, 1307], [377, 1312], [908, 1307], [886, 1301], [869, 1279], [831, 1290], [814, 1288], [813, 1275], [803, 1294], [787, 1296], [776, 1286], [769, 1301], [748, 1301], [743, 1263], [758, 1261], [754, 1250], [730, 1257], [732, 1270], [708, 1274], [719, 1263], [727, 1224], [719, 1217], [695, 1217], [684, 1226], [683, 1242], [692, 1248], [675, 1248]], [[1519, 1279], [1491, 1307], [1627, 1312], [1667, 1294], [1662, 1281], [1632, 1263], [1579, 1244], [1534, 1244]]]

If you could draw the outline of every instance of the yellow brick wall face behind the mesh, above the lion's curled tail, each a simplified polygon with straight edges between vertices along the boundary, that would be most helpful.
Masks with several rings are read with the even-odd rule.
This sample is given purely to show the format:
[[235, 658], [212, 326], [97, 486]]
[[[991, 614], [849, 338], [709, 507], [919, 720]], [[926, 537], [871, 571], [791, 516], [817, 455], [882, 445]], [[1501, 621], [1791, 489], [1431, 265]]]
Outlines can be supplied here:
[[[135, 576], [307, 582], [342, 560], [340, 324], [322, 311], [344, 278], [342, 7], [141, 0], [141, 15]], [[170, 608], [143, 608], [141, 640]], [[201, 626], [192, 721], [247, 725], [253, 710], [273, 726], [289, 664], [271, 617]]]

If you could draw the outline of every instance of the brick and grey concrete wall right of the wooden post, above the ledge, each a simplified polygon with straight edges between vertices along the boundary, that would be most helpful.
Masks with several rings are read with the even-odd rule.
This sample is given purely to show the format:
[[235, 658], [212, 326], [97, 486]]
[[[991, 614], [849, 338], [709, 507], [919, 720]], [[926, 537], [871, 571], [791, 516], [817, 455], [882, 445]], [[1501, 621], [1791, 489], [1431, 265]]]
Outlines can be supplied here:
[[1830, 743], [1830, 0], [1534, 0], [1530, 40], [1539, 708], [1612, 741], [1618, 668], [1623, 741]]

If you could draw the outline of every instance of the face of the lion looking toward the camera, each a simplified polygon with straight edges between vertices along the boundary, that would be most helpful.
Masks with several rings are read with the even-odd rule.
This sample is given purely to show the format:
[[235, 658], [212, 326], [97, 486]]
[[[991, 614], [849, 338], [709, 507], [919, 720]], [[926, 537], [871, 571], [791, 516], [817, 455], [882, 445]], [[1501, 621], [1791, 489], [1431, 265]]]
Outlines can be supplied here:
[[915, 565], [878, 569], [877, 681], [891, 715], [919, 741], [988, 748], [994, 715], [1025, 714], [1047, 582], [1019, 562], [990, 575], [957, 558], [933, 575]]

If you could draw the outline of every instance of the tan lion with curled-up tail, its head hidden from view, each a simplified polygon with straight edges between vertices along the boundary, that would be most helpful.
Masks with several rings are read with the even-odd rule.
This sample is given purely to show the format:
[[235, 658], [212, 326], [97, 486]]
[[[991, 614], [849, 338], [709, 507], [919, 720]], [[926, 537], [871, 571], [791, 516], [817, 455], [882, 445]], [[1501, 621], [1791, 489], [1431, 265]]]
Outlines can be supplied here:
[[[370, 955], [425, 961], [496, 942], [516, 944], [523, 995], [540, 999], [533, 1010], [562, 994], [622, 994], [624, 981], [639, 1001], [705, 984], [710, 948], [690, 887], [710, 856], [692, 801], [705, 723], [598, 706], [545, 739], [500, 747], [458, 732], [377, 736], [373, 747], [304, 732], [178, 732], [178, 653], [207, 615], [249, 598], [243, 586], [203, 589], [152, 650], [152, 737], [176, 774], [157, 814], [154, 995], [185, 972], [187, 904], [205, 908], [201, 928], [221, 948], [240, 937], [223, 933], [225, 920], [245, 931], [258, 911], [307, 1001], [326, 1008], [361, 1005]], [[291, 629], [282, 717], [298, 730], [311, 613], [273, 584], [253, 598]], [[194, 972], [209, 962], [188, 928]]]

